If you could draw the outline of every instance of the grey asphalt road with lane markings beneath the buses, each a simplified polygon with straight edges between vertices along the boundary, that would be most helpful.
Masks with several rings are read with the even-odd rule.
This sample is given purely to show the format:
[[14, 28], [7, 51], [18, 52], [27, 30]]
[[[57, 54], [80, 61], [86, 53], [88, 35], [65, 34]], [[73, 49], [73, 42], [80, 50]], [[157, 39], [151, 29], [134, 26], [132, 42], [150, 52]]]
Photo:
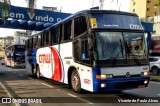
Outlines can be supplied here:
[[[0, 101], [9, 98], [9, 106], [159, 106], [160, 83], [150, 81], [147, 88], [122, 92], [77, 94], [68, 85], [46, 78], [36, 79], [30, 70], [12, 69], [0, 65]], [[150, 99], [150, 103], [146, 103]], [[17, 101], [20, 100], [18, 103]], [[133, 103], [135, 100], [135, 103]], [[5, 101], [3, 101], [5, 102]], [[132, 103], [131, 103], [132, 102]], [[144, 102], [144, 103], [143, 103]]]

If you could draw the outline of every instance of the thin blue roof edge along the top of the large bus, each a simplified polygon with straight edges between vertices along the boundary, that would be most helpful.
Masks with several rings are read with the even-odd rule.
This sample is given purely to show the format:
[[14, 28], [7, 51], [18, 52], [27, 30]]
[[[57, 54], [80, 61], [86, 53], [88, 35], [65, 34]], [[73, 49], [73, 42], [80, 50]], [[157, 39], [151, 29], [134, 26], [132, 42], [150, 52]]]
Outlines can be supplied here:
[[[129, 12], [123, 12], [123, 11], [115, 11], [115, 10], [83, 10], [83, 11], [79, 11], [79, 12], [73, 14], [73, 15], [70, 15], [69, 17], [63, 19], [62, 21], [59, 21], [59, 22], [51, 25], [50, 27], [48, 27], [48, 28], [40, 31], [40, 32], [37, 33], [37, 34], [32, 35], [32, 36], [29, 37], [29, 38], [32, 38], [32, 37], [34, 37], [34, 36], [37, 36], [37, 35], [41, 34], [42, 32], [47, 31], [48, 29], [50, 29], [50, 28], [52, 28], [52, 27], [54, 27], [54, 26], [58, 26], [60, 23], [63, 23], [63, 22], [65, 22], [65, 21], [69, 20], [69, 19], [72, 19], [73, 17], [75, 17], [75, 16], [77, 16], [77, 15], [80, 15], [80, 14], [89, 14], [89, 13], [119, 14], [119, 15], [128, 15], [128, 16], [138, 17], [138, 15], [135, 14], [135, 13], [129, 13]], [[28, 39], [29, 39], [29, 38], [28, 38]]]

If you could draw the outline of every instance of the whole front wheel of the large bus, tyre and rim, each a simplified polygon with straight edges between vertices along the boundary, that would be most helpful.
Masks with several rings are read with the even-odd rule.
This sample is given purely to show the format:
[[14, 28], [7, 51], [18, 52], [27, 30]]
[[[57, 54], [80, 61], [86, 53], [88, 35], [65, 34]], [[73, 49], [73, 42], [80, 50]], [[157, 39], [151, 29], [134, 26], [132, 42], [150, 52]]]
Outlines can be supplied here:
[[80, 82], [80, 77], [77, 73], [76, 70], [74, 70], [72, 72], [72, 75], [71, 75], [71, 86], [72, 86], [72, 89], [77, 92], [77, 93], [80, 93], [81, 92], [81, 82]]

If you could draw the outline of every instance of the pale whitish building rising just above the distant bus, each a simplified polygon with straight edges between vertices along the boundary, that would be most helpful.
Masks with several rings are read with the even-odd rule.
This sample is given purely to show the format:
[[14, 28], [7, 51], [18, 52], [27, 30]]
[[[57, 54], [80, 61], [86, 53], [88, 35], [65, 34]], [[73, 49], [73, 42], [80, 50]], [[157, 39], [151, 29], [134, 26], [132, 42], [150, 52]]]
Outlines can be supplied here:
[[31, 31], [16, 31], [14, 33], [15, 44], [25, 44], [25, 40], [31, 35]]

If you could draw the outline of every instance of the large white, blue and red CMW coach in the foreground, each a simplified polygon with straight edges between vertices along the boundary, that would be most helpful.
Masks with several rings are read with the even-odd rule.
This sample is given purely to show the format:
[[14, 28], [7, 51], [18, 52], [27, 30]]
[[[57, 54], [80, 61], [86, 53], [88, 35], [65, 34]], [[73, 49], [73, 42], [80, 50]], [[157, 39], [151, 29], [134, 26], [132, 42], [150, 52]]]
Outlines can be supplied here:
[[148, 44], [136, 14], [84, 10], [25, 41], [33, 76], [68, 84], [75, 92], [147, 87]]

